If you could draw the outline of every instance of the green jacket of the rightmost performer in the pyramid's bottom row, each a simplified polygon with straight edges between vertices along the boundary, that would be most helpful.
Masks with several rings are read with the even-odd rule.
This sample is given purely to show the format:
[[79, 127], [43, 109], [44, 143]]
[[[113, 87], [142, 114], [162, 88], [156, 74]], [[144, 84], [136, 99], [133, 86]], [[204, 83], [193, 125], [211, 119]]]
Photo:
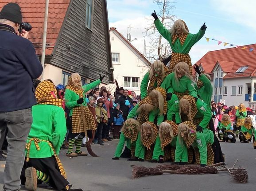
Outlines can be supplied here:
[[[203, 133], [193, 132], [191, 137], [194, 138], [194, 142], [191, 145], [199, 150], [201, 164], [207, 165], [206, 144], [213, 144], [213, 132], [210, 130], [204, 130]], [[191, 145], [187, 145], [180, 136], [177, 137], [175, 162], [188, 162], [188, 148]]]

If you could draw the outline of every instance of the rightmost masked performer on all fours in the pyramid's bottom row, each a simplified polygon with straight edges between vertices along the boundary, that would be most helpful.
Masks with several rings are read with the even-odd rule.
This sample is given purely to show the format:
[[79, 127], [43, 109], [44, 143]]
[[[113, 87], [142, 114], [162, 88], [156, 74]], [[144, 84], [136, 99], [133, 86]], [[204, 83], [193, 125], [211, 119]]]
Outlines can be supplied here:
[[175, 163], [188, 162], [188, 148], [197, 147], [200, 153], [200, 166], [207, 166], [207, 143], [213, 144], [213, 132], [204, 129], [196, 132], [196, 127], [189, 127], [186, 122], [178, 125], [178, 137], [175, 150]]

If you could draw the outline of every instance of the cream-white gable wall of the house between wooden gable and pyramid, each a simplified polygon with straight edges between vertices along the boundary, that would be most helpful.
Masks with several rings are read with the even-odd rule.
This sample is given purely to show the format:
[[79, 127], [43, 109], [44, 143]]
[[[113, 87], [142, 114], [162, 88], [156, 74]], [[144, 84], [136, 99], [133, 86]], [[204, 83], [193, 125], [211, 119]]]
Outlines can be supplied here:
[[[112, 40], [112, 37], [114, 40]], [[124, 87], [124, 77], [139, 77], [138, 88], [124, 87], [124, 89], [133, 90], [136, 95], [140, 95], [140, 82], [148, 71], [147, 65], [140, 59], [139, 55], [126, 45], [127, 43], [123, 39], [112, 31], [110, 31], [110, 43], [111, 52], [120, 53], [119, 63], [112, 62], [114, 79], [117, 80], [119, 87]]]

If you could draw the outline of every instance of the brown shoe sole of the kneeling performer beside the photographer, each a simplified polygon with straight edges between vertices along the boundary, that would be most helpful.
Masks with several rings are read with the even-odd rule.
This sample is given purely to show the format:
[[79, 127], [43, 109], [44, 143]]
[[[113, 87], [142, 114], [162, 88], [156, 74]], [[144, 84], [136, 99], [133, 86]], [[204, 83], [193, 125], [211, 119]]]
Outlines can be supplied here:
[[29, 167], [25, 170], [26, 182], [25, 188], [30, 191], [35, 191], [37, 188], [37, 175], [36, 169]]

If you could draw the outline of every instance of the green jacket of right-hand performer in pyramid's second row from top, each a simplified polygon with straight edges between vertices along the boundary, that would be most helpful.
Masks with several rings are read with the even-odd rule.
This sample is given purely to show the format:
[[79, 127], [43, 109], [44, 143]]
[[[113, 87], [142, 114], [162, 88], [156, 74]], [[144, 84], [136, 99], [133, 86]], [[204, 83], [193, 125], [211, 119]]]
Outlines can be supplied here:
[[201, 97], [202, 101], [208, 104], [208, 107], [211, 105], [213, 86], [211, 81], [206, 77], [206, 75], [199, 75], [199, 80], [202, 81], [202, 87], [198, 87], [198, 95]]

